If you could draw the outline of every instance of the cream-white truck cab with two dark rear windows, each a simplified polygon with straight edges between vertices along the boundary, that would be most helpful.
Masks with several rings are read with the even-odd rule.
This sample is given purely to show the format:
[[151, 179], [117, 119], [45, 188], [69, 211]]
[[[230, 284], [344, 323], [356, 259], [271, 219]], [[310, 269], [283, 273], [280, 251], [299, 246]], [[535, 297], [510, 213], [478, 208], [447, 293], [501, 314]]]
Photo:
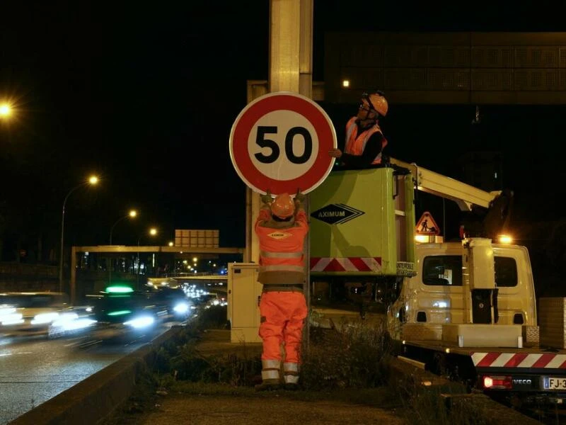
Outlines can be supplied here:
[[[529, 252], [524, 246], [504, 244], [493, 244], [492, 250], [497, 289], [494, 322], [536, 326]], [[462, 243], [417, 243], [415, 253], [416, 274], [403, 280], [400, 297], [388, 310], [388, 329], [396, 339], [405, 323], [426, 325], [422, 332], [427, 335], [422, 338], [439, 340], [443, 324], [492, 322], [491, 300], [466, 288]], [[465, 305], [468, 292], [471, 314]]]

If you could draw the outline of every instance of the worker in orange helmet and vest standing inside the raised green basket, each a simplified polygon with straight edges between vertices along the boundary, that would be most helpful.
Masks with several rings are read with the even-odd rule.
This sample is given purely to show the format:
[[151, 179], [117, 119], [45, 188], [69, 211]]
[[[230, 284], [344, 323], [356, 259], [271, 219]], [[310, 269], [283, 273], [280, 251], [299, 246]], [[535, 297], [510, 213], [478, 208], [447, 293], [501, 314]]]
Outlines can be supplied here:
[[330, 149], [328, 155], [340, 159], [343, 165], [351, 168], [381, 164], [387, 140], [379, 128], [379, 119], [387, 115], [388, 108], [382, 91], [362, 94], [357, 115], [346, 124], [344, 152], [337, 148]]

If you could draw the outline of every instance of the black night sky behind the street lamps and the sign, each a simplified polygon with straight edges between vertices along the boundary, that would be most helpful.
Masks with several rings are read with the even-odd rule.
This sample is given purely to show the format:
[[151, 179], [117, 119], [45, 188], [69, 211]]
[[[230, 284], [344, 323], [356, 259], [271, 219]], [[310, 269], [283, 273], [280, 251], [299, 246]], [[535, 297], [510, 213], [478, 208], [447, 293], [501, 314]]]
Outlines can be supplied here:
[[[37, 246], [41, 237], [57, 249], [64, 196], [91, 173], [100, 185], [67, 202], [67, 246], [108, 244], [110, 227], [130, 208], [139, 220], [115, 227], [115, 244], [136, 244], [150, 225], [163, 244], [174, 229], [219, 229], [221, 246], [244, 244], [245, 186], [228, 140], [246, 106], [246, 80], [267, 79], [269, 1], [121, 3], [3, 5], [0, 101], [17, 110], [0, 123], [4, 261], [18, 241]], [[566, 29], [563, 14], [541, 2], [522, 9], [454, 2], [441, 10], [381, 3], [314, 2], [314, 81], [324, 80], [325, 31]], [[323, 107], [341, 141], [356, 106]], [[388, 153], [451, 172], [454, 140], [469, 139], [474, 107], [392, 104], [390, 111]], [[518, 217], [563, 217], [566, 108], [482, 113], [484, 142], [502, 150], [505, 182], [517, 203], [529, 205], [516, 208]]]

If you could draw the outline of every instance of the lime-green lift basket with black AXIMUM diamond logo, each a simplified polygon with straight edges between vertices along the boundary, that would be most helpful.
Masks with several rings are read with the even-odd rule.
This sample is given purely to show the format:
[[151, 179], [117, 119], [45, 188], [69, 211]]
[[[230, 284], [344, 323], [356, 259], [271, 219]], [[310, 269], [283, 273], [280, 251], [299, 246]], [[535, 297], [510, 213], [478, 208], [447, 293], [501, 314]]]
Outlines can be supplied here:
[[311, 275], [412, 276], [413, 198], [408, 170], [331, 172], [309, 198]]

